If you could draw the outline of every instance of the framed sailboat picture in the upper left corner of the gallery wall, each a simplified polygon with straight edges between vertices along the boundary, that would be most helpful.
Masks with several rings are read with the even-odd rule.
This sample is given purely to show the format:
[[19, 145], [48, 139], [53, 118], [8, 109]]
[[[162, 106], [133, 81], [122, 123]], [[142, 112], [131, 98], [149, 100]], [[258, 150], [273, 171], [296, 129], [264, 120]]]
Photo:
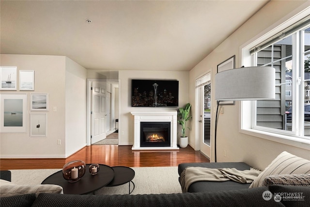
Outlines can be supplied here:
[[16, 91], [17, 67], [0, 67], [0, 90]]

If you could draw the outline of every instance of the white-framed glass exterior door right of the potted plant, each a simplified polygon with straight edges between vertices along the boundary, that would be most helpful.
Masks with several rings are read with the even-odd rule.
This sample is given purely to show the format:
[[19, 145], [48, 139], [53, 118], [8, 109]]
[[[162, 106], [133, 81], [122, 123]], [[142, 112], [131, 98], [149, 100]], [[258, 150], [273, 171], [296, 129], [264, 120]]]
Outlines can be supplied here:
[[196, 139], [200, 151], [211, 158], [211, 74], [203, 75], [196, 80], [196, 117], [198, 127]]

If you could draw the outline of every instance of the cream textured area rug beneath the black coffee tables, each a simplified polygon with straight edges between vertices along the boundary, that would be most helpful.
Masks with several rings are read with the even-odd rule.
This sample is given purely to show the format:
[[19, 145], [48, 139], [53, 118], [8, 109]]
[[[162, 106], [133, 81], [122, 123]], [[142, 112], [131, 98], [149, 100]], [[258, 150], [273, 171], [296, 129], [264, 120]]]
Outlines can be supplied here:
[[[131, 194], [160, 194], [160, 193], [182, 193], [178, 181], [178, 167], [132, 167], [135, 177], [135, 189]], [[37, 185], [49, 175], [61, 169], [40, 169], [40, 170], [11, 170], [12, 182], [18, 185]], [[87, 172], [86, 172], [87, 173]], [[83, 179], [83, 178], [82, 178]], [[133, 185], [130, 185], [131, 190]], [[128, 183], [115, 186], [103, 187], [95, 194], [128, 194]]]

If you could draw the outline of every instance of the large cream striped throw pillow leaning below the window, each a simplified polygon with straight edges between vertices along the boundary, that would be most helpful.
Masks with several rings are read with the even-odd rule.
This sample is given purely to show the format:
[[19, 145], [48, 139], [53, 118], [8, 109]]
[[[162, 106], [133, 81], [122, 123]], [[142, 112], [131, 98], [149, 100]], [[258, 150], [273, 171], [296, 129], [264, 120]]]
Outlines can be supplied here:
[[310, 160], [284, 151], [257, 176], [249, 188], [262, 186], [266, 176], [283, 174], [310, 174]]

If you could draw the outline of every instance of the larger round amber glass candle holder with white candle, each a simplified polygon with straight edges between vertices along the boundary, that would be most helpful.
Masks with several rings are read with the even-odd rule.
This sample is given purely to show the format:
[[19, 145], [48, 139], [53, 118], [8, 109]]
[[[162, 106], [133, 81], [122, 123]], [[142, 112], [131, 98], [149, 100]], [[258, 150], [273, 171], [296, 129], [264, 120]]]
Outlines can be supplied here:
[[77, 182], [85, 174], [86, 164], [82, 160], [74, 160], [63, 165], [62, 176], [68, 182]]

